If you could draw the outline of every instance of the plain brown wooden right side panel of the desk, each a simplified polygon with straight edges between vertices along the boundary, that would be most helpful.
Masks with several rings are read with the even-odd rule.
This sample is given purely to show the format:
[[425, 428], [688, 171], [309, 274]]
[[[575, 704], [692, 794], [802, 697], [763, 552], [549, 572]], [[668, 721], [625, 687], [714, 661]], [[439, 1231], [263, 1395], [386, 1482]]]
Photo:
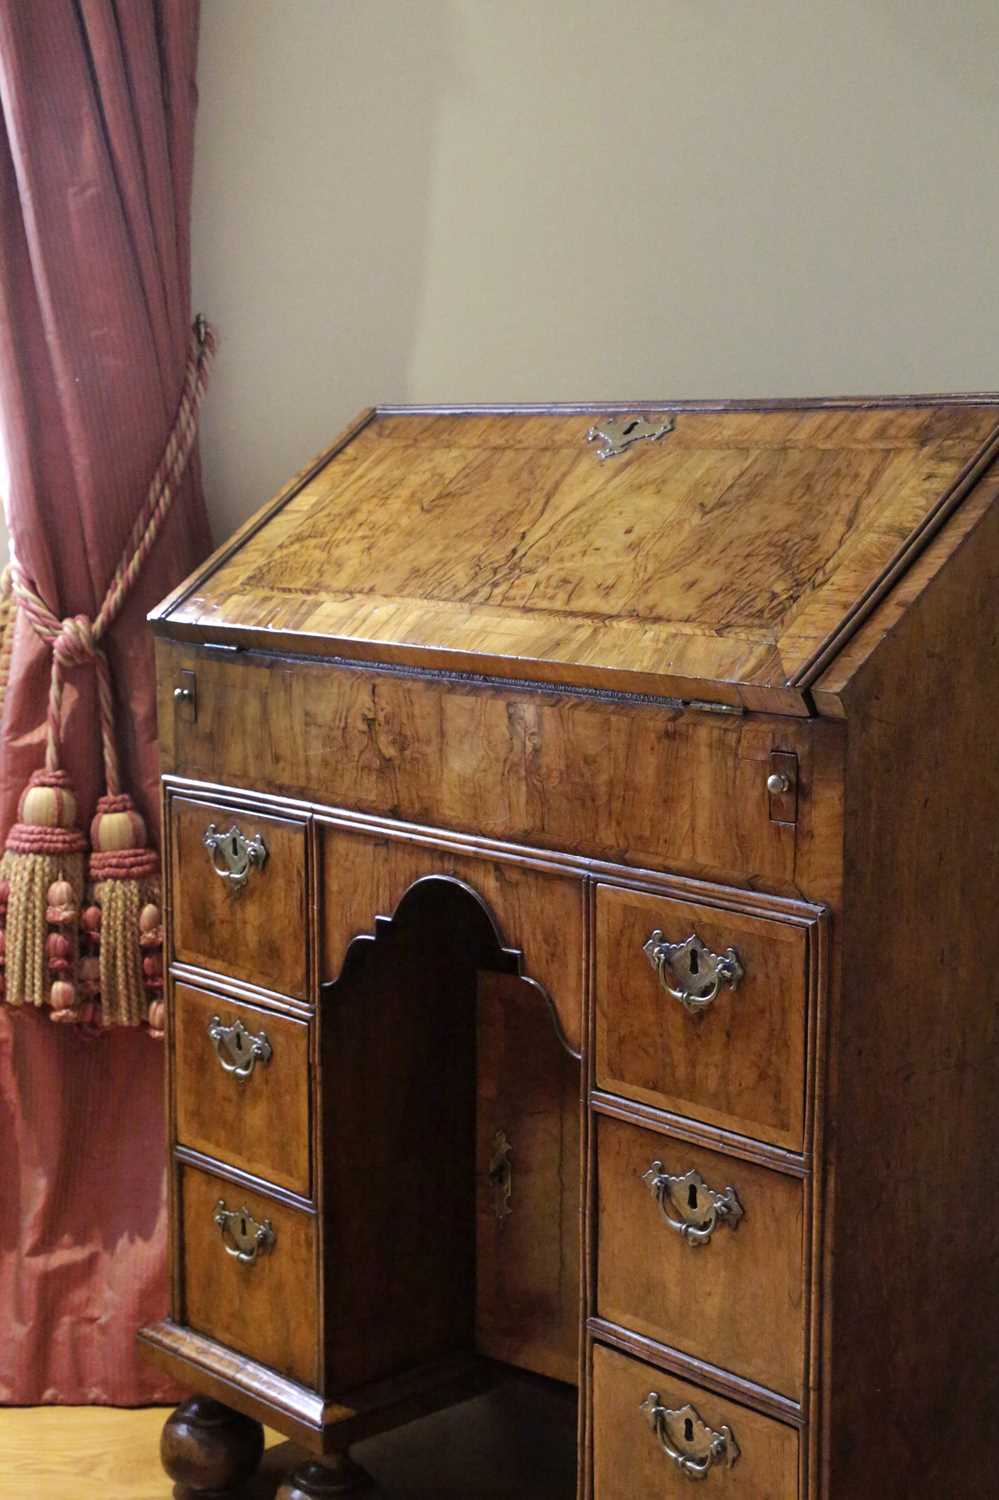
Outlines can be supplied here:
[[824, 1500], [999, 1462], [999, 504], [850, 682]]

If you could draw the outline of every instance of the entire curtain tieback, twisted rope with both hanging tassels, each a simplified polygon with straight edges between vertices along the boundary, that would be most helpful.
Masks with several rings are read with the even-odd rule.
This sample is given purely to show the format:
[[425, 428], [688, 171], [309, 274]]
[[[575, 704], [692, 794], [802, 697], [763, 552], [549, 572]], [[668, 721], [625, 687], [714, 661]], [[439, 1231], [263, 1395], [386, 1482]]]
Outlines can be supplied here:
[[[52, 1020], [72, 1022], [86, 1035], [141, 1022], [153, 1036], [164, 1035], [159, 855], [122, 788], [105, 639], [177, 496], [214, 350], [214, 332], [198, 318], [177, 417], [94, 618], [60, 620], [15, 558], [0, 580], [0, 693], [10, 660], [12, 608], [52, 651], [45, 768], [34, 771], [21, 795], [0, 860], [0, 993], [10, 1005], [48, 1005]], [[60, 760], [64, 680], [90, 666], [98, 682], [106, 790], [87, 840]]]

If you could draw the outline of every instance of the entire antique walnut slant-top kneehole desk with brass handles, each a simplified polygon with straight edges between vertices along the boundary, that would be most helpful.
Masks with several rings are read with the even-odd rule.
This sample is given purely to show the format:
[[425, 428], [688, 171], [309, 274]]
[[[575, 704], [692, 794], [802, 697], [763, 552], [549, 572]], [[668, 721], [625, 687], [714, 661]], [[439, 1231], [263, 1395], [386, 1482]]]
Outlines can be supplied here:
[[998, 434], [384, 408], [156, 612], [190, 1492], [986, 1492]]

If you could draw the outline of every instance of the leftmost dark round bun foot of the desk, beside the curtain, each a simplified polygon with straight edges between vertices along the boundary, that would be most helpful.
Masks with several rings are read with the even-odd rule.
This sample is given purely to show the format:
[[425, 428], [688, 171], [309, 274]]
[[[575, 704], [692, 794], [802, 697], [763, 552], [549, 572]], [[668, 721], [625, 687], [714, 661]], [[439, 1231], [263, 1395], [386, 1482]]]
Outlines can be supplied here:
[[264, 1430], [208, 1396], [182, 1401], [166, 1418], [159, 1456], [190, 1496], [228, 1496], [244, 1484], [264, 1452]]

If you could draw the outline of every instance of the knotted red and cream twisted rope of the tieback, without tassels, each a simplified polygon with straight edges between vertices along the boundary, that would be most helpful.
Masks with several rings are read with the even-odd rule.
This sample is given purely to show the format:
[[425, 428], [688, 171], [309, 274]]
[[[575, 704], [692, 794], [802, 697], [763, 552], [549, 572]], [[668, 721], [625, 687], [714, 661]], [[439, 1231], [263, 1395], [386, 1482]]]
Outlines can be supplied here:
[[[148, 556], [160, 532], [164, 520], [177, 496], [177, 488], [190, 458], [198, 434], [198, 408], [208, 384], [208, 370], [216, 351], [214, 330], [204, 318], [196, 318], [188, 350], [184, 384], [180, 393], [177, 416], [166, 438], [164, 456], [150, 482], [142, 508], [135, 518], [122, 560], [104, 596], [94, 620], [87, 615], [70, 615], [58, 620], [36, 588], [28, 584], [15, 558], [10, 560], [10, 594], [32, 624], [34, 633], [52, 648], [52, 675], [48, 690], [45, 768], [58, 770], [58, 741], [63, 720], [63, 684], [66, 672], [76, 666], [93, 664], [98, 674], [98, 708], [100, 716], [100, 750], [108, 792], [117, 796], [122, 790], [122, 772], [114, 740], [114, 693], [108, 654], [100, 645], [104, 636], [118, 615], [129, 588], [135, 582], [142, 562]], [[4, 648], [6, 648], [4, 640]], [[0, 652], [0, 674], [9, 651]]]

